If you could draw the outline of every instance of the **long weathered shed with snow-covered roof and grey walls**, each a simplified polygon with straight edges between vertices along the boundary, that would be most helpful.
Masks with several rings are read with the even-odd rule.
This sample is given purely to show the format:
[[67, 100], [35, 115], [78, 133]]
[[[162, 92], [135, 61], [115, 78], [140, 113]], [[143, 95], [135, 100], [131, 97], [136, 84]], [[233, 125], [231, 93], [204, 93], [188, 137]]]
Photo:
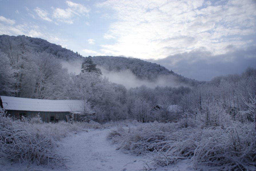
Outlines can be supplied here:
[[0, 96], [0, 104], [7, 115], [15, 118], [34, 117], [40, 115], [44, 122], [67, 121], [74, 113], [78, 120], [78, 111], [83, 106], [82, 100], [45, 100], [20, 97]]

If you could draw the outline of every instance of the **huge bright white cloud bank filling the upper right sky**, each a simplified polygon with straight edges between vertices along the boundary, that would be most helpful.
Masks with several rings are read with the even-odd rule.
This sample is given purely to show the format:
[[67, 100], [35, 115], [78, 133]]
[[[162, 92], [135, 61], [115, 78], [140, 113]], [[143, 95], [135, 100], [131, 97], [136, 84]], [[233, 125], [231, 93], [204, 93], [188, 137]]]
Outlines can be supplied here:
[[117, 43], [102, 45], [114, 56], [160, 59], [202, 48], [217, 55], [226, 53], [229, 44], [245, 47], [251, 43], [248, 36], [255, 37], [252, 1], [107, 0], [97, 7], [114, 11], [102, 14], [117, 20], [104, 35]]

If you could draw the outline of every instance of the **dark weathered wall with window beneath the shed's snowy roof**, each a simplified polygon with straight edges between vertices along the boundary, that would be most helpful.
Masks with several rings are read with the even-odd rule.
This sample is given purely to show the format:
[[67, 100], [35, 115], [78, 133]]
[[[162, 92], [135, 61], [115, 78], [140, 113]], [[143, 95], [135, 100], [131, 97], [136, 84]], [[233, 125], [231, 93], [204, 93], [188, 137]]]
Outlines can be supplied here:
[[[25, 114], [26, 117], [35, 117], [36, 115], [40, 115], [43, 122], [50, 122], [51, 114], [54, 115], [54, 121], [66, 121], [66, 115], [69, 115], [70, 112], [44, 112], [44, 111], [16, 111], [16, 110], [7, 110], [7, 115], [11, 117], [19, 118], [20, 114]], [[56, 119], [58, 118], [58, 119]]]

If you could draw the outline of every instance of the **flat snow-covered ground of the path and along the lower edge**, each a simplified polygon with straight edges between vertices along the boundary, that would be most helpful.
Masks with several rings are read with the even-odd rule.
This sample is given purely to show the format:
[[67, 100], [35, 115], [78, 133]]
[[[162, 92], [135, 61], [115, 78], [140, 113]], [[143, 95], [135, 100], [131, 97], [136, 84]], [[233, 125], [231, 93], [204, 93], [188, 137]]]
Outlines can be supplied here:
[[[150, 163], [149, 156], [135, 156], [125, 154], [120, 150], [116, 150], [116, 146], [110, 144], [106, 139], [106, 135], [114, 128], [106, 129], [88, 129], [80, 133], [72, 133], [70, 136], [59, 141], [56, 147], [57, 154], [67, 156], [70, 162], [66, 162], [68, 169], [64, 167], [47, 168], [47, 166], [35, 166], [32, 164], [29, 169], [25, 169], [24, 164], [10, 163], [1, 164], [0, 171], [4, 170], [58, 170], [58, 171], [139, 171], [146, 170], [148, 163], [150, 168], [154, 168]], [[154, 169], [155, 170], [155, 169]], [[165, 170], [194, 170], [190, 167], [190, 161], [184, 160], [176, 164], [158, 167], [157, 171]]]

